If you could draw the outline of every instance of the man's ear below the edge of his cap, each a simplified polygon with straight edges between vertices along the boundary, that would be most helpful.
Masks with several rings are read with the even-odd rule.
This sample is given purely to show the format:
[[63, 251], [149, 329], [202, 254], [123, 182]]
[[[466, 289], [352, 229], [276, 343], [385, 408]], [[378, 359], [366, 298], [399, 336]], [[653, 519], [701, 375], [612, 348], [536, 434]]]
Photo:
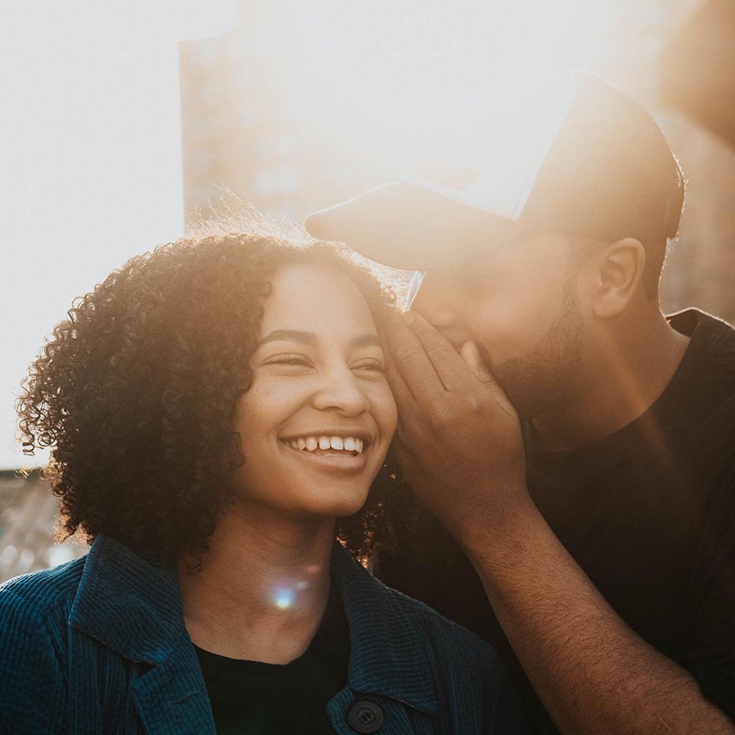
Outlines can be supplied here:
[[641, 285], [645, 248], [625, 237], [598, 251], [590, 266], [592, 311], [600, 318], [613, 317], [631, 303]]

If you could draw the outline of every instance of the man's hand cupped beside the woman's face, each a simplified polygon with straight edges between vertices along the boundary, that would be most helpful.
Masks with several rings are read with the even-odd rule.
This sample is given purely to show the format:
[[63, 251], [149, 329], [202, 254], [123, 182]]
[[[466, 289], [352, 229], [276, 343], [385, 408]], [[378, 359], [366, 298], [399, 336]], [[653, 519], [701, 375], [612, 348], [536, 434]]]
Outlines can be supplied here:
[[457, 354], [423, 317], [387, 331], [388, 380], [398, 404], [393, 448], [413, 490], [465, 544], [532, 503], [520, 423], [473, 343]]

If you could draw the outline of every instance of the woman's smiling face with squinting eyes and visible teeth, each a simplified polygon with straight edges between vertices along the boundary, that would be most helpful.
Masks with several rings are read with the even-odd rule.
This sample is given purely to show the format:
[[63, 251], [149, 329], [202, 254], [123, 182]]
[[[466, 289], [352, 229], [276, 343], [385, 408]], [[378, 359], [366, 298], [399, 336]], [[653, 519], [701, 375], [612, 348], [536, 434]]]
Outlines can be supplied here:
[[352, 514], [396, 423], [375, 323], [337, 270], [293, 265], [272, 284], [234, 417], [245, 456], [238, 498], [302, 517]]

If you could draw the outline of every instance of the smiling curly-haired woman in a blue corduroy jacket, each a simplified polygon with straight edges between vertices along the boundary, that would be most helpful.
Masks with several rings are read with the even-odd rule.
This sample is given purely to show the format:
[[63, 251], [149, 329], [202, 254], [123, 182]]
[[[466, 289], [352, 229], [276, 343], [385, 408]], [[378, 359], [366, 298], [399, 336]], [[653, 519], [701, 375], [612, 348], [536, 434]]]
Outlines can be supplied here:
[[343, 548], [400, 489], [391, 304], [343, 251], [244, 234], [76, 301], [18, 409], [92, 546], [0, 588], [0, 731], [523, 731], [492, 649]]

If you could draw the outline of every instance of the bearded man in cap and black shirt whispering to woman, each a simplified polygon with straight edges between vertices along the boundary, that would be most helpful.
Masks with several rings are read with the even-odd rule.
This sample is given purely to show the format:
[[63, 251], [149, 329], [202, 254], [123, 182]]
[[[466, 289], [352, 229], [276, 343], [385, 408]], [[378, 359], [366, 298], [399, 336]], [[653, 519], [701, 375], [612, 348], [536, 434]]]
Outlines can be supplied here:
[[423, 273], [386, 346], [431, 516], [379, 574], [495, 645], [539, 733], [733, 734], [735, 331], [661, 314], [656, 123], [596, 77], [537, 89], [306, 221]]

